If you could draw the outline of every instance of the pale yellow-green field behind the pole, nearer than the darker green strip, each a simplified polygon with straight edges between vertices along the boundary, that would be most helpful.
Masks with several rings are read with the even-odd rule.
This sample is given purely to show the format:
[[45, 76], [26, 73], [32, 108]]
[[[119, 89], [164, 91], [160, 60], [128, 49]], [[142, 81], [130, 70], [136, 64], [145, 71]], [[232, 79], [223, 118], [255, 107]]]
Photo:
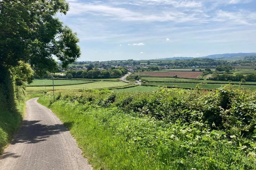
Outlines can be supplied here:
[[[128, 83], [124, 83], [121, 81], [97, 81], [93, 83], [86, 84], [75, 84], [75, 85], [67, 85], [67, 86], [54, 86], [55, 90], [69, 90], [69, 89], [105, 89], [105, 88], [113, 88], [113, 87], [122, 87], [129, 86]], [[45, 90], [51, 91], [52, 86], [30, 86], [26, 87], [27, 91], [36, 91], [36, 90]]]

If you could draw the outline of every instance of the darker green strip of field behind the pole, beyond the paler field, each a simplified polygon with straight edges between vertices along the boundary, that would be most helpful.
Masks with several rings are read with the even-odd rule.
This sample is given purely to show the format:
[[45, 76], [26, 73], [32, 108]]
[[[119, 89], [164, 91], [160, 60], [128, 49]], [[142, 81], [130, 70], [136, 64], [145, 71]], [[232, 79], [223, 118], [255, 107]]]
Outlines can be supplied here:
[[[54, 86], [64, 86], [73, 84], [85, 84], [92, 80], [72, 80], [72, 79], [54, 79]], [[33, 83], [27, 86], [52, 86], [52, 79], [35, 79]]]

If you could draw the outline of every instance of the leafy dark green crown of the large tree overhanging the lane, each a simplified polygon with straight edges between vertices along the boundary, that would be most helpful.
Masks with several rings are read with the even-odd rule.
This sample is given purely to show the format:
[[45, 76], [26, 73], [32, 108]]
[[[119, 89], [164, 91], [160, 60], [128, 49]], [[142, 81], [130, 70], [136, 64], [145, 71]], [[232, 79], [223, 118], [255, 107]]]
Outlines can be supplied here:
[[[65, 0], [0, 0], [0, 70], [29, 63], [38, 75], [54, 72], [80, 57], [76, 33], [56, 17]], [[1, 83], [1, 82], [0, 82]]]

